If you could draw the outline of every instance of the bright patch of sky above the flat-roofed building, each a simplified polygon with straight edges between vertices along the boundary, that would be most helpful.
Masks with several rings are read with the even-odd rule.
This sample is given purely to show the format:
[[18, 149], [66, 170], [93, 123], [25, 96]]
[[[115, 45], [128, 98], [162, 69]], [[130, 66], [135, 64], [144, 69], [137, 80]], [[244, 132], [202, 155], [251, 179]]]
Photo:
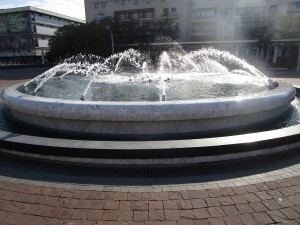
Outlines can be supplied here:
[[0, 9], [34, 6], [85, 20], [84, 0], [0, 0]]

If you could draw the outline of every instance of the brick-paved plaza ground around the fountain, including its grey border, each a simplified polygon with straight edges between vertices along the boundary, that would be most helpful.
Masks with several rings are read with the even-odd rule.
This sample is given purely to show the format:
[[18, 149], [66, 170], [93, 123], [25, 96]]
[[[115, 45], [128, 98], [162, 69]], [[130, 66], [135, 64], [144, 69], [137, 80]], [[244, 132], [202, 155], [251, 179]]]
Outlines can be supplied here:
[[[25, 77], [20, 71], [0, 70], [0, 90], [41, 69], [28, 69]], [[299, 84], [297, 75], [280, 79]], [[0, 171], [0, 224], [296, 225], [300, 224], [297, 162], [296, 157], [284, 167], [257, 174], [171, 185], [51, 182]]]

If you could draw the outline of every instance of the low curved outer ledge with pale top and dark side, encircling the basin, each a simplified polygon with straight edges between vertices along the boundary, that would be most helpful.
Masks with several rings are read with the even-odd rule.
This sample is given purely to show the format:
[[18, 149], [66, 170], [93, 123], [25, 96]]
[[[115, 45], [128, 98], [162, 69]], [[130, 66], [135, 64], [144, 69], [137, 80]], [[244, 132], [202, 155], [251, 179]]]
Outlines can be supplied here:
[[0, 131], [1, 153], [89, 165], [190, 165], [276, 154], [299, 147], [300, 125], [244, 135], [161, 141], [70, 140]]

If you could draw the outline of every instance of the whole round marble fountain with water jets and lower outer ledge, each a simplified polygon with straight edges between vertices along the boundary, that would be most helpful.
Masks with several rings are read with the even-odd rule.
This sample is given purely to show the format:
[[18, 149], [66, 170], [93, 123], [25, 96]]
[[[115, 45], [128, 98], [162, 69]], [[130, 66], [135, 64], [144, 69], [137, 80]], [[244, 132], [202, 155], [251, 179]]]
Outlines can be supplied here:
[[[65, 139], [55, 139], [58, 146], [46, 144], [49, 149], [42, 154], [36, 146], [46, 137], [29, 144], [29, 152], [4, 151], [122, 165], [186, 164], [224, 160], [224, 155], [233, 159], [265, 154], [251, 147], [236, 153], [236, 146], [227, 151], [212, 144], [239, 146], [244, 142], [238, 136], [201, 137], [221, 132], [224, 136], [276, 120], [295, 98], [292, 85], [270, 80], [245, 61], [212, 48], [163, 52], [158, 59], [154, 63], [133, 49], [107, 59], [78, 55], [25, 84], [5, 89], [1, 98], [13, 120], [76, 140], [70, 138], [66, 145]], [[84, 137], [93, 140], [81, 140]]]

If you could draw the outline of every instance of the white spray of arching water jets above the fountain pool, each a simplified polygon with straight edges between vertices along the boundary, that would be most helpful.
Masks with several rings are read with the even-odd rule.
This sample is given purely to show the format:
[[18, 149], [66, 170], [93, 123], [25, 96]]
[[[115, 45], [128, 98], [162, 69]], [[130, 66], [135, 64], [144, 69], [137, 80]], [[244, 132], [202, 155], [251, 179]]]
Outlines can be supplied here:
[[[166, 99], [166, 81], [173, 79], [197, 79], [210, 74], [232, 74], [253, 76], [266, 84], [271, 84], [268, 77], [227, 51], [204, 48], [186, 53], [175, 45], [171, 51], [163, 51], [157, 65], [151, 64], [149, 56], [137, 50], [129, 49], [114, 54], [106, 59], [94, 55], [76, 55], [28, 81], [24, 86], [34, 84], [34, 93], [53, 77], [64, 79], [67, 76], [83, 76], [88, 84], [81, 94], [85, 100], [91, 85], [96, 81], [110, 79], [109, 82], [124, 82], [133, 74], [131, 82], [147, 81], [157, 83], [161, 89], [161, 99]], [[177, 49], [178, 51], [174, 51]], [[180, 74], [180, 75], [176, 75]]]

